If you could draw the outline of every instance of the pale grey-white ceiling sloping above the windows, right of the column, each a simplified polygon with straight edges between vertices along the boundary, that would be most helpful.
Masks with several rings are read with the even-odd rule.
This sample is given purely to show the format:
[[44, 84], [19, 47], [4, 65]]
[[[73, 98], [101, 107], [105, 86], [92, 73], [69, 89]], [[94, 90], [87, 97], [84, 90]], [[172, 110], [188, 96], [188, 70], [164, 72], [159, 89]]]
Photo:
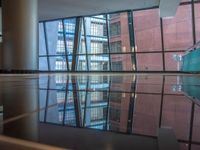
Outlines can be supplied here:
[[39, 20], [159, 6], [160, 0], [39, 0]]

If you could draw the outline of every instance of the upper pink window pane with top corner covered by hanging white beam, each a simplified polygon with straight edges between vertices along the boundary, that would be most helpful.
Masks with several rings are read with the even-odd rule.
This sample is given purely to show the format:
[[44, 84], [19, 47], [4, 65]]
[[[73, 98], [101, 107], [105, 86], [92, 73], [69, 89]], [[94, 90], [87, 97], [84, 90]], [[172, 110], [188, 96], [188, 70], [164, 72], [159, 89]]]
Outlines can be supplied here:
[[176, 16], [163, 19], [165, 50], [186, 50], [193, 45], [191, 5], [179, 6]]

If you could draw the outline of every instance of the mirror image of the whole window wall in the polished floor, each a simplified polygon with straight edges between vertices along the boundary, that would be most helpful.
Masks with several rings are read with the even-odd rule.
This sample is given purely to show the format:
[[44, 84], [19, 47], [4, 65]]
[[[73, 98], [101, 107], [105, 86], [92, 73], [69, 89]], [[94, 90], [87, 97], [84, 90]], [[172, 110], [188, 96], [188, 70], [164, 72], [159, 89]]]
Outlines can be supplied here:
[[39, 122], [157, 137], [171, 127], [182, 150], [200, 149], [200, 77], [40, 75]]

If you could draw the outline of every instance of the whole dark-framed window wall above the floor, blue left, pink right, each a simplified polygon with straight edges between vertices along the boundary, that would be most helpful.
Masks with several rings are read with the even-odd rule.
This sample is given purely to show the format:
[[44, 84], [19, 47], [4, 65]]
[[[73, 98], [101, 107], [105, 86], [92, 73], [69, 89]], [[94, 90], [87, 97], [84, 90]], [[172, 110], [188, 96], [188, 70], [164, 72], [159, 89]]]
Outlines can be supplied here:
[[200, 40], [199, 2], [183, 1], [170, 18], [153, 8], [40, 22], [39, 70], [181, 71]]

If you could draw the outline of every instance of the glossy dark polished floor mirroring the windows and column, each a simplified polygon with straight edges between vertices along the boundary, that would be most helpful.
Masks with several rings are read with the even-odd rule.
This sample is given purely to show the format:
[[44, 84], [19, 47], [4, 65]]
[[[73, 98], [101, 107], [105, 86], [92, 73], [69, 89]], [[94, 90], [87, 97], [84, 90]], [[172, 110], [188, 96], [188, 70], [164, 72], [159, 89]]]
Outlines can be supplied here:
[[170, 128], [181, 150], [200, 149], [199, 75], [1, 75], [0, 89], [2, 135], [68, 149], [156, 150], [158, 129]]

